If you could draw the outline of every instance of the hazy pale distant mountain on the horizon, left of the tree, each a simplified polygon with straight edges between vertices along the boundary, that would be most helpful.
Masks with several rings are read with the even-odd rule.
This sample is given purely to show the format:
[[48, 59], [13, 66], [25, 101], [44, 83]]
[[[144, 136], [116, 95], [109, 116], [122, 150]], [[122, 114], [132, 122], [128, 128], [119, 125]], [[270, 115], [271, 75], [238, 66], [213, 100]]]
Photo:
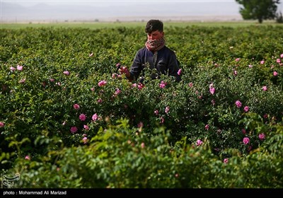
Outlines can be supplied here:
[[[115, 3], [115, 4], [114, 4]], [[233, 4], [232, 4], [233, 3]], [[161, 18], [197, 18], [206, 16], [230, 16], [241, 19], [235, 2], [173, 2], [164, 1], [137, 4], [117, 4], [109, 6], [86, 5], [48, 5], [38, 3], [35, 6], [20, 6], [16, 3], [1, 2], [1, 21], [137, 21], [152, 17]], [[224, 19], [224, 18], [223, 18]]]

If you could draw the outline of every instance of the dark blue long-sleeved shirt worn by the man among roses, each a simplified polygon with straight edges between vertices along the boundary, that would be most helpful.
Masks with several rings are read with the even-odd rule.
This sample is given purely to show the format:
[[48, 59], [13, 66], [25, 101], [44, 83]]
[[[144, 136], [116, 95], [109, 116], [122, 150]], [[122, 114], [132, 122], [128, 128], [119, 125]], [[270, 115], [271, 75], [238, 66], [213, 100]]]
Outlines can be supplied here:
[[[151, 74], [146, 73], [146, 71], [149, 70], [144, 69], [145, 66], [149, 66], [149, 69], [151, 69]], [[151, 52], [147, 50], [146, 47], [143, 47], [134, 57], [134, 62], [132, 63], [129, 72], [131, 74], [130, 78], [134, 81], [137, 81], [139, 77], [144, 75], [150, 75], [151, 79], [156, 79], [160, 76], [160, 74], [164, 74], [168, 76], [174, 76], [175, 81], [179, 82], [181, 80], [180, 75], [177, 74], [179, 69], [178, 60], [173, 50], [166, 46], [164, 46], [161, 50], [158, 50], [156, 64], [154, 64], [154, 52]]]

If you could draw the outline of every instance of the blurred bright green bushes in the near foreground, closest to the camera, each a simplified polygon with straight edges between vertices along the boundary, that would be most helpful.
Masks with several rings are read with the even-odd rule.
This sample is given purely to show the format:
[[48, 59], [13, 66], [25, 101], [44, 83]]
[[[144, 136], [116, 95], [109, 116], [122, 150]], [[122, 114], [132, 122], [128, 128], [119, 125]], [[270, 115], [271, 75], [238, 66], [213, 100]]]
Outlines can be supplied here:
[[[255, 116], [243, 122], [265, 132]], [[19, 158], [5, 174], [20, 173], [14, 187], [29, 188], [282, 188], [282, 126], [274, 125], [261, 148], [246, 157], [228, 149], [229, 158], [217, 158], [207, 140], [196, 146], [181, 139], [170, 146], [170, 136], [163, 127], [149, 135], [118, 120], [100, 129], [88, 146], [64, 147], [30, 161]]]

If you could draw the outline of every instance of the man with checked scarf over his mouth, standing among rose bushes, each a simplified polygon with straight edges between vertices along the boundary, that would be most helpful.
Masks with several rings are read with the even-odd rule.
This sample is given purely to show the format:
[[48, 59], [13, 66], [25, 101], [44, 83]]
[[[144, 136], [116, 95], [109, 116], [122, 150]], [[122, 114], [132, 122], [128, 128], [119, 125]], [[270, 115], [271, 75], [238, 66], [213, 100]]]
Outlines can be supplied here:
[[166, 47], [166, 40], [163, 32], [163, 22], [159, 20], [149, 20], [146, 23], [145, 32], [147, 40], [134, 57], [134, 62], [130, 70], [127, 66], [120, 67], [120, 73], [125, 74], [129, 81], [144, 79], [144, 69], [149, 66], [151, 79], [160, 78], [161, 74], [173, 76], [175, 81], [181, 80], [181, 69], [175, 52]]

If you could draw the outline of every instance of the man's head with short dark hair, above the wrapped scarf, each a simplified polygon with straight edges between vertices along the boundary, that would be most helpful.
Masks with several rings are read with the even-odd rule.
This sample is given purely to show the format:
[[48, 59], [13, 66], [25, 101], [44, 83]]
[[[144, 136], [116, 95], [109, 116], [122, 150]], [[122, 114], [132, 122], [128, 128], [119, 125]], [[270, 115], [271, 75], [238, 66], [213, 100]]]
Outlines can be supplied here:
[[149, 40], [158, 40], [164, 36], [163, 22], [156, 19], [151, 19], [146, 23], [145, 32]]

